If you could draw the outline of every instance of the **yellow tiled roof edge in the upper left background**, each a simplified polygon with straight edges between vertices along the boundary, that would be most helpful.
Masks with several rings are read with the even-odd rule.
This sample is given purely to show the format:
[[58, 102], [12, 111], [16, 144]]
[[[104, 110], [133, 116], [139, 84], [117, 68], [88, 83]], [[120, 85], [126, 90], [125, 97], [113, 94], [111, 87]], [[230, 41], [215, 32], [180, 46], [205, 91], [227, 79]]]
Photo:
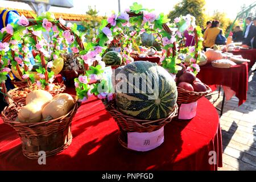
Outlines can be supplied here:
[[[32, 14], [36, 14], [32, 10], [20, 10], [20, 9], [11, 9], [11, 8], [5, 8], [5, 7], [0, 7], [0, 10], [2, 11], [3, 9], [7, 10], [16, 10], [20, 15], [24, 15], [27, 18], [33, 19]], [[90, 19], [89, 15], [82, 15], [82, 14], [68, 14], [68, 13], [53, 13], [55, 15], [56, 19], [59, 19], [60, 17], [64, 20], [70, 20], [70, 21], [88, 21]]]

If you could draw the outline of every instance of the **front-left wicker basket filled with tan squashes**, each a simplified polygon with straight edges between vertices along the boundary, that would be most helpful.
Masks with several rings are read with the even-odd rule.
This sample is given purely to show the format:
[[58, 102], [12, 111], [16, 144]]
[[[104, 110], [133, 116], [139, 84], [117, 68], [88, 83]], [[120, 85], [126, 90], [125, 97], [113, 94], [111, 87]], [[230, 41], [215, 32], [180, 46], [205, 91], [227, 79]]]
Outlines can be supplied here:
[[22, 142], [23, 155], [38, 159], [58, 154], [71, 144], [71, 122], [79, 107], [76, 96], [32, 90], [23, 97], [23, 106], [12, 101], [2, 111], [3, 122], [13, 127]]

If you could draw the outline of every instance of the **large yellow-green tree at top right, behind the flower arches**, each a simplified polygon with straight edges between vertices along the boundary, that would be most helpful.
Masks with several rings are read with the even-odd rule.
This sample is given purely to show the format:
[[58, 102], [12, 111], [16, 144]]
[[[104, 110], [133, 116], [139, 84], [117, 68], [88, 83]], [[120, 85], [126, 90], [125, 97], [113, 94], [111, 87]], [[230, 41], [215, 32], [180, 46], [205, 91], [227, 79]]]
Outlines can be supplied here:
[[205, 18], [205, 0], [182, 0], [174, 6], [168, 14], [171, 21], [177, 16], [191, 14], [196, 18], [198, 26], [205, 26], [208, 19]]

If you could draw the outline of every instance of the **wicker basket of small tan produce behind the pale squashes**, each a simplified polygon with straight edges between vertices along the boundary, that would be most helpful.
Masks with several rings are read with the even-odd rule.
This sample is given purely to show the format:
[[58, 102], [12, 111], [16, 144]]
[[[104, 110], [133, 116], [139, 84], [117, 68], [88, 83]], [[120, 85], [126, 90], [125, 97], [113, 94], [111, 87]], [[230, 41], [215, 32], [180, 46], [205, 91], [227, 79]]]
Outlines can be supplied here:
[[[54, 88], [52, 90], [46, 90], [49, 93], [51, 93], [52, 96], [55, 96], [56, 94], [59, 94], [59, 93], [63, 93], [64, 90], [66, 89], [66, 86], [64, 84], [55, 83], [55, 85], [57, 86], [57, 88]], [[20, 86], [18, 88], [12, 89], [8, 92], [9, 96], [11, 96], [11, 99], [8, 98], [7, 101], [9, 103], [11, 103], [12, 102], [11, 100], [13, 100], [16, 104], [18, 104], [20, 106], [25, 105], [25, 100], [23, 98], [26, 98], [27, 94], [24, 94], [23, 96], [19, 96], [19, 92], [24, 91], [24, 89], [26, 89], [26, 88], [30, 88], [31, 90], [37, 90], [38, 89], [38, 87], [35, 84], [33, 84], [31, 86], [29, 86], [29, 85]], [[19, 97], [14, 97], [15, 95], [18, 95]]]

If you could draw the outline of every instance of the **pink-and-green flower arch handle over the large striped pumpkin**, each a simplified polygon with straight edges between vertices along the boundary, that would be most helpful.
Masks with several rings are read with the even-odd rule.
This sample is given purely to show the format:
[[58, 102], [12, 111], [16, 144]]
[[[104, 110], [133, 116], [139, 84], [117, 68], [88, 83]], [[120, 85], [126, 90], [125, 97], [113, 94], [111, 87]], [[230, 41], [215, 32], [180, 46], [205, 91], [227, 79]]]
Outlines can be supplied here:
[[[82, 60], [89, 65], [90, 69], [86, 71], [85, 75], [75, 78], [76, 93], [79, 101], [86, 101], [92, 94], [100, 99], [108, 98], [108, 100], [111, 100], [113, 98], [110, 88], [106, 85], [106, 78], [102, 74], [104, 73], [105, 63], [101, 61], [101, 56], [112, 42], [113, 37], [119, 35], [120, 32], [117, 30], [123, 26], [142, 26], [145, 31], [154, 30], [162, 36], [163, 56], [160, 61], [162, 66], [170, 73], [176, 74], [181, 69], [179, 65], [176, 65], [179, 63], [177, 62], [178, 45], [176, 44], [176, 37], [180, 35], [179, 32], [177, 33], [177, 28], [168, 26], [169, 21], [170, 19], [163, 13], [156, 15], [152, 13], [152, 10], [143, 9], [142, 5], [138, 5], [138, 3], [133, 3], [130, 9], [121, 14], [113, 13], [107, 20], [102, 20], [96, 41], [88, 43], [85, 51], [80, 52]], [[195, 26], [192, 24], [192, 19], [190, 19], [190, 22], [189, 20], [185, 20], [185, 22], [187, 23], [186, 28], [192, 27], [194, 29]], [[172, 24], [172, 26], [175, 26], [175, 24]], [[125, 61], [129, 59], [129, 57], [124, 58]], [[98, 65], [96, 67], [92, 66], [95, 63]], [[97, 82], [91, 84], [93, 80], [97, 80]], [[104, 88], [104, 92], [100, 92], [98, 88]]]

